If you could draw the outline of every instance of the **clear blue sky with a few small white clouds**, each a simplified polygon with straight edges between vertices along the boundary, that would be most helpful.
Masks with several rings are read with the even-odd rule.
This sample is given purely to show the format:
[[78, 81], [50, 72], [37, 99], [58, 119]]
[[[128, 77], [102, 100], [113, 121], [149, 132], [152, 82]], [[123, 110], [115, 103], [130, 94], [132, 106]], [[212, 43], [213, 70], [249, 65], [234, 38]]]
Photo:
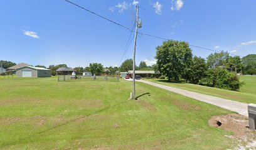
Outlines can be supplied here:
[[[70, 0], [139, 32], [246, 56], [256, 53], [256, 1]], [[130, 32], [64, 0], [13, 0], [0, 5], [0, 59], [31, 65], [117, 66]], [[133, 36], [133, 35], [132, 35]], [[139, 36], [136, 62], [154, 62], [162, 39]], [[133, 42], [124, 59], [132, 58]], [[206, 58], [211, 51], [191, 47]]]

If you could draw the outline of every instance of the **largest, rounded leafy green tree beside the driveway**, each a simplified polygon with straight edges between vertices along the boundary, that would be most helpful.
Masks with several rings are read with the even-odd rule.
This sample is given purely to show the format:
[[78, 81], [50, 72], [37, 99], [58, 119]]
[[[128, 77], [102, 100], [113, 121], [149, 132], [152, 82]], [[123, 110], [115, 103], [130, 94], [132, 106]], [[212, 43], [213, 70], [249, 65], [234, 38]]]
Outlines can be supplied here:
[[188, 74], [192, 62], [192, 51], [188, 42], [168, 40], [156, 47], [156, 67], [168, 81], [179, 81], [180, 76]]

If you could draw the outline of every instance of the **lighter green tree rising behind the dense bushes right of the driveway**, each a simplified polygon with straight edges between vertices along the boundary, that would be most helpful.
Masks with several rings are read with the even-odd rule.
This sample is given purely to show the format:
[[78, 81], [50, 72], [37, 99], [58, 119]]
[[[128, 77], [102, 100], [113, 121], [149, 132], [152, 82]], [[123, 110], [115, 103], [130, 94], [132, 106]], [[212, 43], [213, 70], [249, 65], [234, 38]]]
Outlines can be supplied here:
[[228, 64], [229, 53], [221, 51], [220, 53], [213, 53], [207, 57], [207, 64], [209, 68], [221, 67], [225, 68]]

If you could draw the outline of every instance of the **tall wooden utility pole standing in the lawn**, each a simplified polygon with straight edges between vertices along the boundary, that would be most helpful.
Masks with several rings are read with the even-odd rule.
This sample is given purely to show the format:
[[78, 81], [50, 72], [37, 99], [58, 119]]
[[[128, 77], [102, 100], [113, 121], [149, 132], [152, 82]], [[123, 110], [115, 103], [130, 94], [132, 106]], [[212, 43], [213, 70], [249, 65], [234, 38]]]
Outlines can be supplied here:
[[139, 21], [139, 6], [136, 6], [136, 29], [135, 29], [135, 38], [134, 38], [134, 58], [133, 58], [133, 69], [132, 69], [132, 82], [133, 82], [133, 93], [132, 98], [136, 99], [136, 88], [135, 88], [135, 54], [136, 54], [136, 41], [137, 41], [137, 32], [138, 32], [138, 21]]

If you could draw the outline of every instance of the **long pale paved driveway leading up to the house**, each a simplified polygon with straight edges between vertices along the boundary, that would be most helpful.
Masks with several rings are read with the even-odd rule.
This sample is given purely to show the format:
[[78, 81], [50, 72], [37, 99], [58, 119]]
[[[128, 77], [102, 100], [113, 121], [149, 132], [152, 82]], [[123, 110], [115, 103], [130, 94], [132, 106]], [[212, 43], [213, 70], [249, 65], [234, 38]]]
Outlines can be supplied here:
[[[132, 81], [132, 80], [129, 79], [129, 81]], [[137, 81], [141, 82], [141, 83], [150, 84], [151, 86], [156, 86], [158, 88], [166, 89], [168, 91], [178, 93], [183, 96], [187, 96], [189, 98], [197, 99], [197, 100], [203, 101], [205, 103], [213, 104], [215, 106], [219, 106], [221, 108], [225, 108], [230, 111], [237, 112], [239, 114], [242, 114], [243, 116], [248, 116], [248, 108], [247, 108], [248, 104], [246, 104], [246, 103], [240, 103], [240, 102], [232, 101], [229, 99], [223, 99], [223, 98], [218, 98], [215, 96], [209, 96], [206, 94], [195, 93], [195, 92], [187, 91], [184, 89], [173, 88], [171, 86], [165, 86], [163, 84], [152, 83], [150, 81], [136, 80], [136, 82]]]

